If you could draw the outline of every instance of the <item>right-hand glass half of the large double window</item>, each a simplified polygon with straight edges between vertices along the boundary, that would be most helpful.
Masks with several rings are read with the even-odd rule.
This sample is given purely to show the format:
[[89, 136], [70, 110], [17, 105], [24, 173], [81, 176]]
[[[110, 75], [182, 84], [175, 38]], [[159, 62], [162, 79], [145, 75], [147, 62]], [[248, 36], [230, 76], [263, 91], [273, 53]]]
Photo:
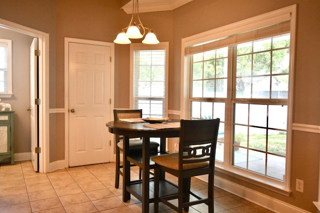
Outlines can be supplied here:
[[280, 181], [285, 175], [289, 44], [289, 34], [238, 44], [232, 69], [232, 165]]

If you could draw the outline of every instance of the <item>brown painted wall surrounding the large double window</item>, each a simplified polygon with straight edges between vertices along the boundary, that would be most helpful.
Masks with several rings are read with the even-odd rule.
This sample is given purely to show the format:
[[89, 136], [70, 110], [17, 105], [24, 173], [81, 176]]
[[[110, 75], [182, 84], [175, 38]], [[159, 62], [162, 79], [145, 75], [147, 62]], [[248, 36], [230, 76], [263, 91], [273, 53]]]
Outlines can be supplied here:
[[[193, 0], [174, 10], [174, 72], [179, 82], [181, 38], [233, 23], [248, 17], [297, 4], [297, 32], [294, 66], [293, 122], [320, 125], [320, 1], [319, 0]], [[205, 6], [202, 6], [205, 5]], [[186, 15], [187, 14], [187, 15]], [[160, 39], [161, 40], [161, 39]], [[172, 69], [170, 69], [172, 70]], [[174, 76], [175, 76], [174, 75]], [[169, 90], [170, 97], [179, 97], [179, 87]], [[179, 99], [170, 99], [169, 109], [179, 110]], [[320, 135], [294, 131], [292, 137], [291, 179], [289, 197], [273, 193], [251, 183], [217, 173], [234, 183], [309, 212], [316, 212]], [[295, 191], [295, 179], [304, 181], [304, 193]]]

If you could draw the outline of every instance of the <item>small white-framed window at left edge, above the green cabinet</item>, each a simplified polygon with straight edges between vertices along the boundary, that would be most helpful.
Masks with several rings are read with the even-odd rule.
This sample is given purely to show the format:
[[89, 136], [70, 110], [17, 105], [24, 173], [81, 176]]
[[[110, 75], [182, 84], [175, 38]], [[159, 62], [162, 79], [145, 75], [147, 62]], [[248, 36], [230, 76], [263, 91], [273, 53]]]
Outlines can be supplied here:
[[0, 97], [12, 95], [11, 40], [0, 39]]

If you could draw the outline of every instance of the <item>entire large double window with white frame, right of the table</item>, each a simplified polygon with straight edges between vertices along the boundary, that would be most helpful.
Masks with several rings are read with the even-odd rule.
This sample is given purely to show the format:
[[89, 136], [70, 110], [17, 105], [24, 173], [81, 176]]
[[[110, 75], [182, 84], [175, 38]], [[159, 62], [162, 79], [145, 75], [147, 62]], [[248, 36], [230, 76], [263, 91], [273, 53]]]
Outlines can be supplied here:
[[220, 118], [217, 168], [285, 192], [294, 12], [285, 7], [182, 40], [182, 117]]

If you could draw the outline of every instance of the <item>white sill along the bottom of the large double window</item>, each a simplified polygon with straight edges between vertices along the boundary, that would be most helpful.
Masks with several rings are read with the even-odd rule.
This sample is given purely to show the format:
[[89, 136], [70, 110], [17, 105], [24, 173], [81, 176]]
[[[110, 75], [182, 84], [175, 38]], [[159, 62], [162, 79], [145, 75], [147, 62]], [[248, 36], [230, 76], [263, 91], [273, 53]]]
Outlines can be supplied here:
[[264, 178], [250, 172], [242, 171], [241, 169], [237, 169], [231, 166], [223, 166], [216, 162], [215, 171], [237, 178], [247, 183], [254, 184], [258, 187], [262, 187], [286, 197], [289, 197], [289, 195], [291, 194], [291, 190], [285, 188], [284, 183], [270, 178]]

